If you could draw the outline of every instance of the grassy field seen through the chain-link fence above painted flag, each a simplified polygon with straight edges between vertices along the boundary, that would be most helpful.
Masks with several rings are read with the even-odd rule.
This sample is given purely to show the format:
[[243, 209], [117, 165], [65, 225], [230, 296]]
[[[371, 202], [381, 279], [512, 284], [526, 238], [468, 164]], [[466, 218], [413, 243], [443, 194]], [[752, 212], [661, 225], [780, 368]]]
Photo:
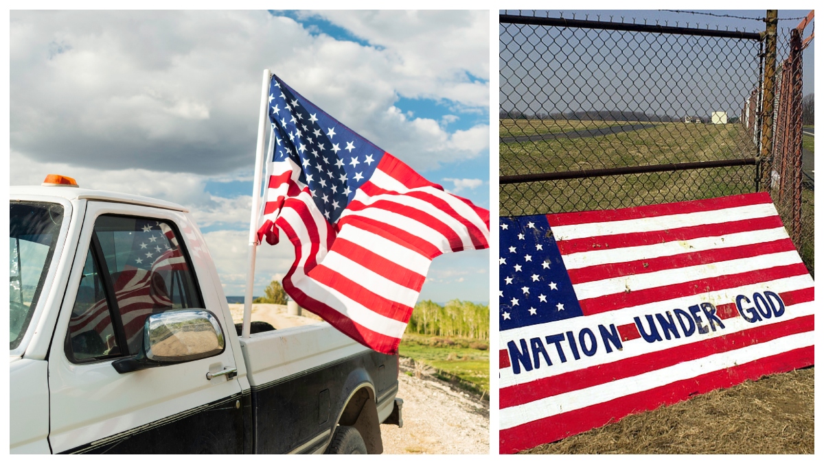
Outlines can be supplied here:
[[[525, 122], [518, 123], [533, 120], [522, 121]], [[500, 174], [728, 160], [754, 153], [755, 148], [740, 124], [656, 123], [638, 131], [599, 137], [502, 143]], [[720, 197], [750, 192], [754, 179], [754, 166], [735, 166], [504, 184], [500, 187], [500, 213], [545, 214]]]

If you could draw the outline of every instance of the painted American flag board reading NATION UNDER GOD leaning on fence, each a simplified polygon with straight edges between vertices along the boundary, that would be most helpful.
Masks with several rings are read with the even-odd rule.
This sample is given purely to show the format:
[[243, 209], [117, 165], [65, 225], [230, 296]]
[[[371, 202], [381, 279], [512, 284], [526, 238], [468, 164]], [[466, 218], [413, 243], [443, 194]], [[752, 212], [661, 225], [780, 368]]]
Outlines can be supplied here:
[[813, 364], [766, 193], [500, 220], [500, 451]]

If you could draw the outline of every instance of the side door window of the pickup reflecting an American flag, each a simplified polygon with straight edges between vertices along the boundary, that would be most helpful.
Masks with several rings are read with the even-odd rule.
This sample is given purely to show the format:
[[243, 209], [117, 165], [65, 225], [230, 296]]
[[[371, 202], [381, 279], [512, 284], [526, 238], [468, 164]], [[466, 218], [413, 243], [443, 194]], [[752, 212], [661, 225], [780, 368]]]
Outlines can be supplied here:
[[[93, 304], [97, 313], [102, 313], [108, 301], [114, 312], [114, 318], [101, 315], [102, 322], [97, 326], [101, 340], [94, 343], [98, 350], [104, 351], [103, 356], [136, 355], [143, 344], [143, 324], [150, 314], [204, 307], [183, 242], [169, 222], [130, 216], [100, 216], [95, 222], [90, 247], [92, 255], [96, 259], [91, 258], [91, 265], [99, 269], [90, 267], [88, 272], [89, 275], [99, 272], [102, 285], [94, 286], [92, 290], [91, 287], [98, 285], [98, 281], [88, 279], [88, 290], [84, 290], [83, 285], [78, 290], [78, 302], [81, 291], [88, 295], [98, 289], [105, 292], [95, 293]], [[86, 275], [87, 270], [84, 270]], [[106, 299], [105, 295], [114, 296]], [[112, 325], [112, 333], [101, 332], [106, 323]], [[80, 332], [72, 336], [77, 335]], [[75, 351], [74, 341], [70, 345], [74, 359], [81, 360], [77, 357], [79, 354]]]

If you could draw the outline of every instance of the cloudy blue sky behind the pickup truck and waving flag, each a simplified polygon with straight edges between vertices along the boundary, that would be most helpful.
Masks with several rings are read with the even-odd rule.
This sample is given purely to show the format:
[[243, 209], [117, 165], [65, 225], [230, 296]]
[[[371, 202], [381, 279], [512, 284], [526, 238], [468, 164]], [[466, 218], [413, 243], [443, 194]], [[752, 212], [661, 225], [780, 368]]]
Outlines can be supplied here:
[[[12, 185], [65, 174], [188, 206], [227, 295], [245, 288], [265, 68], [489, 208], [489, 12], [10, 16]], [[259, 248], [255, 295], [288, 271], [287, 247]], [[435, 259], [421, 299], [454, 298], [489, 301], [487, 250]]]

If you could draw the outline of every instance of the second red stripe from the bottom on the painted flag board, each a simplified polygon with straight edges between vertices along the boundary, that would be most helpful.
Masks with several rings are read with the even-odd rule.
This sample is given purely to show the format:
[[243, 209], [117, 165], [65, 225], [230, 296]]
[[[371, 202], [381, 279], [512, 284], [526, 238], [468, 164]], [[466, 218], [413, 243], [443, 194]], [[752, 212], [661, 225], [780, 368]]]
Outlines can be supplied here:
[[[795, 333], [810, 332], [813, 316], [788, 319], [782, 322], [752, 327], [724, 336], [716, 336], [688, 345], [673, 346], [667, 350], [637, 355], [612, 363], [598, 364], [552, 377], [540, 378], [528, 383], [500, 389], [499, 404], [505, 407], [527, 404], [542, 398], [554, 397], [561, 393], [601, 385], [619, 378], [630, 378], [679, 363], [698, 360], [709, 355], [737, 350], [745, 346], [757, 345]], [[723, 329], [720, 329], [722, 330]], [[568, 356], [569, 358], [569, 356]], [[568, 362], [574, 362], [568, 361]], [[552, 369], [545, 367], [544, 369]]]

